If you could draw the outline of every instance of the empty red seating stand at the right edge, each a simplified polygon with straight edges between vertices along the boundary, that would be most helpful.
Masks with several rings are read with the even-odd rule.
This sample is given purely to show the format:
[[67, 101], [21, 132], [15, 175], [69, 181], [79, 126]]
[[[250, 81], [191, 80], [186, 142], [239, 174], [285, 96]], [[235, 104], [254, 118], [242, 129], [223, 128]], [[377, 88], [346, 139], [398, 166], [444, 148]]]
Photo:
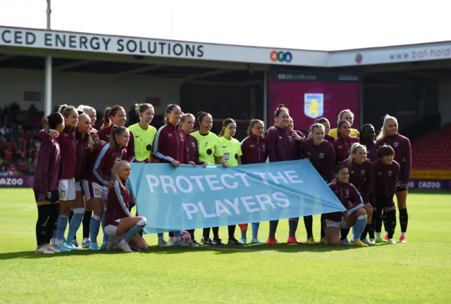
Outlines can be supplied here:
[[451, 170], [451, 124], [414, 141], [412, 160], [416, 170]]

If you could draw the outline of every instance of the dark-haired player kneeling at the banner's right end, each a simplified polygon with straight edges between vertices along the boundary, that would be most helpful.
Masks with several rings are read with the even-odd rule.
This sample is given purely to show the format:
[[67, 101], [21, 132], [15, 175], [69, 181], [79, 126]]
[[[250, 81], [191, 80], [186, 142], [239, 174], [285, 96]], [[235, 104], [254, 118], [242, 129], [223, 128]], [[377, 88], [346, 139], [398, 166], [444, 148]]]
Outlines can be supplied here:
[[350, 172], [346, 165], [340, 164], [336, 170], [336, 179], [329, 184], [330, 189], [338, 197], [347, 209], [343, 212], [326, 213], [326, 241], [328, 245], [336, 246], [340, 244], [340, 229], [353, 227], [354, 246], [368, 247], [366, 243], [360, 241], [360, 236], [366, 226], [366, 209], [359, 191], [350, 184]]

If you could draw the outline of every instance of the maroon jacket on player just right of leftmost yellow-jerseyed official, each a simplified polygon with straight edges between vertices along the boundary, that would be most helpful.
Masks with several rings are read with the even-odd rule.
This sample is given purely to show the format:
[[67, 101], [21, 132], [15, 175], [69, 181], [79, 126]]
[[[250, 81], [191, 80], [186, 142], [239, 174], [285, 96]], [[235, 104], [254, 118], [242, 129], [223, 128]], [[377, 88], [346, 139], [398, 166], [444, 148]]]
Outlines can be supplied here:
[[190, 163], [183, 129], [170, 122], [163, 125], [156, 132], [153, 154], [155, 163], [172, 163], [173, 160], [183, 164]]

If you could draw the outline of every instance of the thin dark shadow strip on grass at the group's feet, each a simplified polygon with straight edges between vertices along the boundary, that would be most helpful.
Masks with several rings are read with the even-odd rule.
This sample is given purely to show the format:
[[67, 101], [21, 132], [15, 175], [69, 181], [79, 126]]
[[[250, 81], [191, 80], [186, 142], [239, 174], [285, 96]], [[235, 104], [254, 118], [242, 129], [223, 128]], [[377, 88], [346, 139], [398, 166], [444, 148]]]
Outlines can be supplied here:
[[[330, 251], [347, 251], [359, 249], [359, 247], [354, 246], [326, 246], [326, 245], [288, 245], [286, 243], [281, 243], [278, 245], [244, 245], [244, 246], [200, 246], [194, 248], [160, 248], [158, 246], [152, 246], [144, 254], [182, 254], [182, 253], [193, 253], [200, 251], [213, 252], [216, 254], [232, 254], [232, 253], [258, 253], [258, 252], [271, 252], [275, 251], [278, 253], [328, 253]], [[55, 253], [55, 254], [38, 254], [35, 251], [20, 251], [11, 253], [0, 253], [0, 260], [13, 260], [18, 258], [31, 258], [31, 259], [41, 259], [41, 258], [58, 258], [61, 256], [85, 256], [85, 255], [111, 255], [111, 254], [125, 254], [121, 251], [71, 251], [69, 253]]]

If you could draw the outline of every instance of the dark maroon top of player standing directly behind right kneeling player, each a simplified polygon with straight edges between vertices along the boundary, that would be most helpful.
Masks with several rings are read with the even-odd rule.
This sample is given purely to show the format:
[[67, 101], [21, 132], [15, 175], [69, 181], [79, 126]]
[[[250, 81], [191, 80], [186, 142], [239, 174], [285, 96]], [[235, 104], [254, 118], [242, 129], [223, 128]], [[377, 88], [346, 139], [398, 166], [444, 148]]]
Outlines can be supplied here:
[[359, 194], [362, 196], [364, 203], [373, 203], [373, 189], [374, 189], [374, 170], [373, 163], [370, 160], [365, 160], [364, 163], [357, 163], [352, 160], [350, 166], [347, 160], [342, 162], [350, 170], [350, 183], [353, 184]]

